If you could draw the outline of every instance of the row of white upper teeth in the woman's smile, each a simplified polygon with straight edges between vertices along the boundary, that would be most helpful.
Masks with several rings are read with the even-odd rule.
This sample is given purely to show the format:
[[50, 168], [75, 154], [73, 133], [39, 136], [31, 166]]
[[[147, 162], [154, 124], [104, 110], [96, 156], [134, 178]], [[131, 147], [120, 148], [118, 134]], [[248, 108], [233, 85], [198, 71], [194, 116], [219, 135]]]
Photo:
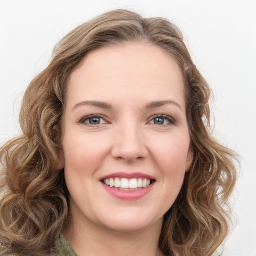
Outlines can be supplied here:
[[120, 188], [140, 188], [147, 187], [150, 185], [151, 181], [147, 178], [106, 178], [103, 183], [110, 187], [120, 187]]

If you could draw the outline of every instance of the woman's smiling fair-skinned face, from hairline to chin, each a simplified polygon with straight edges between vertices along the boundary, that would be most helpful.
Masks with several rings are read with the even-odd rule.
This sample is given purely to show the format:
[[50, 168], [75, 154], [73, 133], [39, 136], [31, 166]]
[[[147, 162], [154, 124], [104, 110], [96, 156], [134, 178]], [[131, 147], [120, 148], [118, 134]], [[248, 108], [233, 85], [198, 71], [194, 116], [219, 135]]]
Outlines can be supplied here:
[[176, 62], [146, 43], [90, 52], [69, 80], [65, 181], [77, 225], [161, 226], [192, 154]]

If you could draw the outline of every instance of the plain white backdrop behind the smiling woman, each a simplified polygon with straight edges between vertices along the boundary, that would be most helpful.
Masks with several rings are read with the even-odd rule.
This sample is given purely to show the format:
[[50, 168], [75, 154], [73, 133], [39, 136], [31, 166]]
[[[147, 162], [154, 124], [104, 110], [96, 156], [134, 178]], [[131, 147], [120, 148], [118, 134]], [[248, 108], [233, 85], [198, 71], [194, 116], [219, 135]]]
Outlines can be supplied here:
[[29, 81], [77, 25], [126, 8], [176, 23], [214, 101], [215, 136], [241, 156], [224, 256], [256, 256], [256, 0], [0, 0], [0, 145], [20, 133]]

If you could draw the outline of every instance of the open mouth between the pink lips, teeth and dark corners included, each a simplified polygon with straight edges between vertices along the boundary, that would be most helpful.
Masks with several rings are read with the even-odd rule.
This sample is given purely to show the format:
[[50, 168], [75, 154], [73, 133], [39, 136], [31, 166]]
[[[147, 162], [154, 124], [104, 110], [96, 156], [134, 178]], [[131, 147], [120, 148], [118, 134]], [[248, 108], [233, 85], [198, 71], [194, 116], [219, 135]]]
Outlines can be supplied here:
[[101, 182], [111, 188], [116, 188], [124, 191], [138, 190], [150, 186], [155, 182], [155, 179], [138, 177], [138, 178], [120, 178], [120, 177], [110, 177], [104, 178]]

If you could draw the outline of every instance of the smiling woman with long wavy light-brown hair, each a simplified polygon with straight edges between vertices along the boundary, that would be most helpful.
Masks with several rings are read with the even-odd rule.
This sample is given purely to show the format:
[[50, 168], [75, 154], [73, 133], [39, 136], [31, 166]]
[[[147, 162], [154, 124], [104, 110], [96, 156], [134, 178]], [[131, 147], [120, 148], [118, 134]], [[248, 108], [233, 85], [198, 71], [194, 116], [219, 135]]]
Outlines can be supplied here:
[[115, 10], [56, 46], [0, 151], [1, 255], [213, 255], [234, 153], [178, 28]]

